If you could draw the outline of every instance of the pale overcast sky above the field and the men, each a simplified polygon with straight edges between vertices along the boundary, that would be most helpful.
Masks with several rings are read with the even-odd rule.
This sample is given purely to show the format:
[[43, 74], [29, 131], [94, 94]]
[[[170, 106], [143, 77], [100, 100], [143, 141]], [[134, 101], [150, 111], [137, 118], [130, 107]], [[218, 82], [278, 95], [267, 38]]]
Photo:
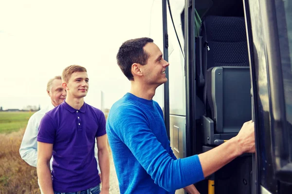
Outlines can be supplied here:
[[[116, 64], [126, 40], [149, 36], [152, 0], [0, 0], [0, 106], [48, 105], [47, 81], [68, 65], [87, 68], [85, 101], [105, 107], [129, 91]], [[162, 19], [162, 18], [157, 18]]]

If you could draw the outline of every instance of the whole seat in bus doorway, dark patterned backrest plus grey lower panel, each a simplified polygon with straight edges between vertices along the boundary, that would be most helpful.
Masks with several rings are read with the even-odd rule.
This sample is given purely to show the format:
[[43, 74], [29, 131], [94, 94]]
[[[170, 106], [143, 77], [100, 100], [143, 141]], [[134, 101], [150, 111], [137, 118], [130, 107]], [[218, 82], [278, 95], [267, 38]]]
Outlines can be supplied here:
[[252, 117], [245, 20], [207, 16], [196, 41], [206, 117], [214, 122], [214, 133], [237, 133]]

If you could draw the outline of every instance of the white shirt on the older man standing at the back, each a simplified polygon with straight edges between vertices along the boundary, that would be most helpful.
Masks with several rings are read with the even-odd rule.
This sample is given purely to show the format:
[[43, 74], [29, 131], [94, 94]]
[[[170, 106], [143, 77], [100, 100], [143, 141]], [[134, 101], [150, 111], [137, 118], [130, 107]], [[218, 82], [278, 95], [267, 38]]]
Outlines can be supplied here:
[[[40, 120], [45, 115], [45, 113], [51, 111], [55, 107], [52, 103], [44, 109], [41, 109], [34, 113], [30, 119], [28, 120], [23, 139], [19, 148], [19, 154], [25, 162], [27, 162], [29, 165], [37, 167], [37, 133], [38, 133], [38, 126], [40, 123]], [[98, 157], [97, 157], [97, 145], [96, 145], [96, 139], [95, 139], [95, 146], [94, 146], [94, 157], [97, 162], [97, 169], [98, 172], [100, 172], [100, 168], [98, 165]], [[50, 161], [50, 168], [52, 170], [52, 162], [53, 157]]]

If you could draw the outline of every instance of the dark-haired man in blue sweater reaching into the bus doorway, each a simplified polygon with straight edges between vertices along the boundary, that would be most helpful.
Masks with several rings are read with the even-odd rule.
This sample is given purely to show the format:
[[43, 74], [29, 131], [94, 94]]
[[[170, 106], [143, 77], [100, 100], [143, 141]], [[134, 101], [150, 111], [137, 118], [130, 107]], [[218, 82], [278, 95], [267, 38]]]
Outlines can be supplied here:
[[[107, 133], [121, 194], [174, 194], [193, 186], [242, 153], [255, 152], [254, 123], [244, 123], [238, 135], [200, 155], [177, 159], [169, 145], [163, 112], [152, 98], [167, 81], [169, 65], [150, 38], [123, 43], [117, 63], [131, 90], [111, 107]], [[216, 157], [214, 157], [216, 155]]]

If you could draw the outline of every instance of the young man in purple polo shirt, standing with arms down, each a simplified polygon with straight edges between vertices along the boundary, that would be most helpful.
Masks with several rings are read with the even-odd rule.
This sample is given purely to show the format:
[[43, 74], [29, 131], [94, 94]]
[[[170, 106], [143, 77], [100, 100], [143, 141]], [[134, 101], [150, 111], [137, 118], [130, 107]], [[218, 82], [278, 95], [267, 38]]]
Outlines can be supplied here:
[[[86, 104], [87, 70], [66, 67], [65, 101], [42, 118], [37, 135], [37, 176], [44, 194], [109, 194], [110, 162], [104, 114]], [[102, 190], [94, 158], [95, 138], [102, 173]], [[53, 155], [53, 170], [49, 162]]]

